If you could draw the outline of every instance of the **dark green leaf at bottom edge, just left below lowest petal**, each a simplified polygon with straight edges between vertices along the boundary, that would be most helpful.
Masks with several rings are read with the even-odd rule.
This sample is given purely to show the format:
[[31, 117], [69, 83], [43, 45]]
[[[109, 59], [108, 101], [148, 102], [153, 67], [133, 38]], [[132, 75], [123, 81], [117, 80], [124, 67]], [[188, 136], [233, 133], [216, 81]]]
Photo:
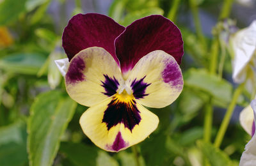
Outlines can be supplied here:
[[81, 143], [61, 142], [60, 152], [67, 156], [74, 165], [96, 165], [97, 147], [86, 146]]

